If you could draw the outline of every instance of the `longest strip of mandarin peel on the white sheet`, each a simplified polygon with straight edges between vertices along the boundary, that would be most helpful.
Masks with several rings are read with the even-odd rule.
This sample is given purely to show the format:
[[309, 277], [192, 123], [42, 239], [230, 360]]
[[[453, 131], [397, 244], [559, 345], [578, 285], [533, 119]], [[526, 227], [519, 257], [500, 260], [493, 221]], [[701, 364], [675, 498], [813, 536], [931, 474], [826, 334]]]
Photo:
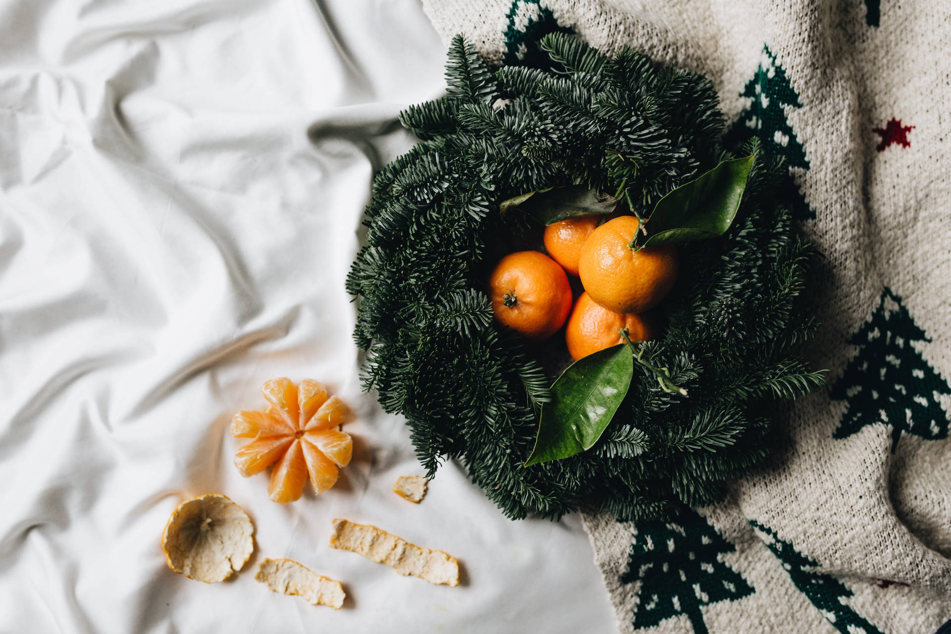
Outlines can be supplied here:
[[330, 535], [330, 548], [349, 550], [399, 574], [418, 577], [431, 584], [459, 585], [459, 563], [442, 550], [410, 544], [401, 537], [365, 524], [337, 518]]

